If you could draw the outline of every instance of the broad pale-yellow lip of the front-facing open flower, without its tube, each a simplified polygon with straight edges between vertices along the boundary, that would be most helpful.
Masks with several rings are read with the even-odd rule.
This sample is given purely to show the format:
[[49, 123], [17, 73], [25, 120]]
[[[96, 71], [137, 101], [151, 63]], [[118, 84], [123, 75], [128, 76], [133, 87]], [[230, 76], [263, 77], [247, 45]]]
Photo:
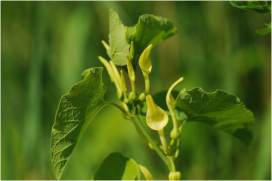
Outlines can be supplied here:
[[151, 95], [146, 96], [147, 112], [146, 123], [154, 130], [163, 129], [168, 123], [168, 115], [166, 112], [155, 104]]

